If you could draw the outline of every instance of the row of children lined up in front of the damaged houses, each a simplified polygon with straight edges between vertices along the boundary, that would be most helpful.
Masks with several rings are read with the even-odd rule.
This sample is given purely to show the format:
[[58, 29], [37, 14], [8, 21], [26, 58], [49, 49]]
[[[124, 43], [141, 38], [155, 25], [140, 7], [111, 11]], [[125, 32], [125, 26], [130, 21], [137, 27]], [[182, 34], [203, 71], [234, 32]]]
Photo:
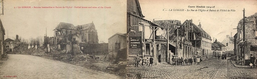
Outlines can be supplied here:
[[185, 66], [185, 65], [192, 65], [193, 62], [197, 62], [197, 65], [200, 64], [200, 57], [194, 57], [194, 58], [177, 58], [177, 57], [172, 57], [172, 65], [181, 65], [181, 66]]

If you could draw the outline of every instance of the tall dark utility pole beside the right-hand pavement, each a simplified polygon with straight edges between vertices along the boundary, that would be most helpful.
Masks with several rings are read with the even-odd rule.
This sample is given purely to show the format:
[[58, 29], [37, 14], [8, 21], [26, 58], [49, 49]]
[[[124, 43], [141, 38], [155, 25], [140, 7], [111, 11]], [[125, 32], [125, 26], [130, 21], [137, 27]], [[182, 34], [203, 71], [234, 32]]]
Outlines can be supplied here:
[[[245, 10], [243, 10], [243, 12], [245, 13]], [[244, 15], [244, 19], [243, 19], [243, 42], [244, 42], [244, 45], [243, 45], [243, 57], [244, 57], [244, 61], [243, 61], [243, 66], [245, 65], [245, 14]]]

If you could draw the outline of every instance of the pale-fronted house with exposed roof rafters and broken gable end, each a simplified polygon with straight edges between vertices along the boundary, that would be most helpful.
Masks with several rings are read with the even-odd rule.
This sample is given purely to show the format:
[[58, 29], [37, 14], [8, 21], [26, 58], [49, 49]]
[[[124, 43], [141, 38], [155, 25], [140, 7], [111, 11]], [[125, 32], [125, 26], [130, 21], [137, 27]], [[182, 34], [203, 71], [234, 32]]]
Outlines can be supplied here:
[[202, 29], [201, 24], [199, 23], [197, 26], [191, 19], [186, 20], [182, 26], [186, 28], [185, 32], [188, 34], [186, 38], [188, 38], [192, 46], [196, 48], [196, 55], [204, 58], [212, 57], [212, 38]]

